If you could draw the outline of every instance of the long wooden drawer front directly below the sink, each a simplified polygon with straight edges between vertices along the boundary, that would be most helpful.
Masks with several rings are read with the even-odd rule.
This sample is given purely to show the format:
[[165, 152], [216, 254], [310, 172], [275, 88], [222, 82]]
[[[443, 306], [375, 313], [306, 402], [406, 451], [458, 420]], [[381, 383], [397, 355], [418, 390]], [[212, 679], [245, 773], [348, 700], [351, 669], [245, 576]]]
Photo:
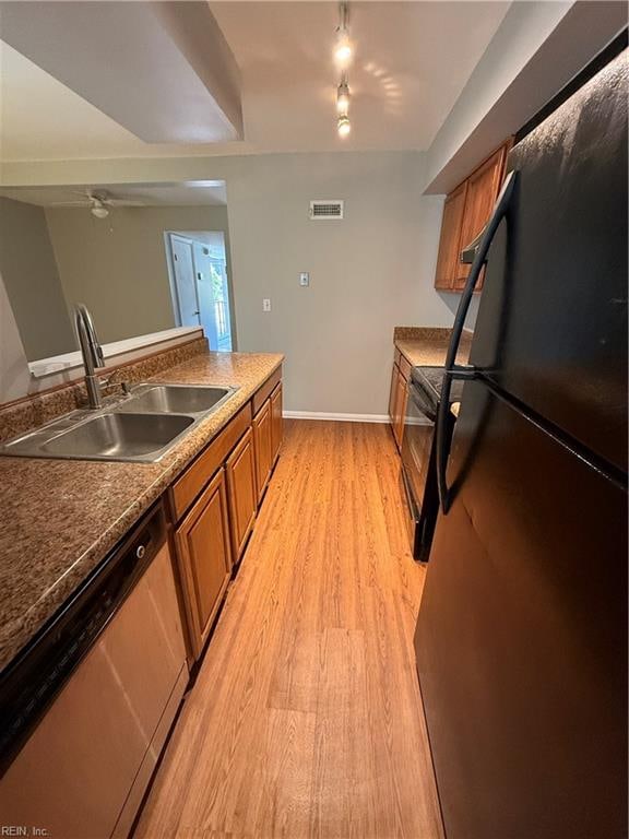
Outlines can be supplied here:
[[230, 420], [225, 428], [203, 449], [201, 454], [170, 487], [170, 506], [174, 518], [178, 521], [203, 489], [207, 481], [223, 465], [227, 454], [251, 425], [251, 404]]

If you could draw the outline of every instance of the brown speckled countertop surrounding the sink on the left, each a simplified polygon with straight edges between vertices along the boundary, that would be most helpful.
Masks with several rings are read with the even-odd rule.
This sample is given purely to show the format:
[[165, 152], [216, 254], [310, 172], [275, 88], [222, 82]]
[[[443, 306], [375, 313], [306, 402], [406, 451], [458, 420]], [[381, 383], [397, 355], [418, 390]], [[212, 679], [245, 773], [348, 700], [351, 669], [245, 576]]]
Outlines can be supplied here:
[[0, 457], [0, 669], [274, 373], [283, 357], [204, 352], [154, 376], [155, 381], [239, 387], [158, 463]]

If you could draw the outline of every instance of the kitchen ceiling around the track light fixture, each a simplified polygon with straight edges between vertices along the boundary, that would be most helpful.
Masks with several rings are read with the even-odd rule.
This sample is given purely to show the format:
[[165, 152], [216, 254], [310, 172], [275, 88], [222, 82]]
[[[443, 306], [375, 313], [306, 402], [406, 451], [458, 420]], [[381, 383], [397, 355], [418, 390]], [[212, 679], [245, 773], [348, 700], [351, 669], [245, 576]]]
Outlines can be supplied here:
[[[145, 143], [1, 44], [5, 161], [426, 149], [508, 2], [353, 2], [349, 138], [335, 131], [334, 2], [210, 4], [242, 76], [245, 141]], [[144, 46], [144, 45], [143, 45]]]

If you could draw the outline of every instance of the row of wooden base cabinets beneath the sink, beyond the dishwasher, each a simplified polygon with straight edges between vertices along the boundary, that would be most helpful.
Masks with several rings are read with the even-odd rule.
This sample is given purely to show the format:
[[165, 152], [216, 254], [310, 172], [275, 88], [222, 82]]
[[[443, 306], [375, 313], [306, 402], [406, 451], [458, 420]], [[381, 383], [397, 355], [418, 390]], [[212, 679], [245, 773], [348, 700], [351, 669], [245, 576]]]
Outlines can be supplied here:
[[278, 367], [169, 489], [190, 659], [201, 654], [245, 552], [281, 442]]

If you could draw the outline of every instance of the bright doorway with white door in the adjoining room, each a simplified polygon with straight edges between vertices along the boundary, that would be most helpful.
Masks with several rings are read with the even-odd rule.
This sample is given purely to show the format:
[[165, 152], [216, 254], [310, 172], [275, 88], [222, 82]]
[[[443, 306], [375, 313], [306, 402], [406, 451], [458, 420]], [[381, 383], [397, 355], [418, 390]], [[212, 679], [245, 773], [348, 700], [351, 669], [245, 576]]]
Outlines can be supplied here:
[[175, 322], [203, 327], [210, 350], [232, 352], [225, 234], [168, 231], [165, 239]]

